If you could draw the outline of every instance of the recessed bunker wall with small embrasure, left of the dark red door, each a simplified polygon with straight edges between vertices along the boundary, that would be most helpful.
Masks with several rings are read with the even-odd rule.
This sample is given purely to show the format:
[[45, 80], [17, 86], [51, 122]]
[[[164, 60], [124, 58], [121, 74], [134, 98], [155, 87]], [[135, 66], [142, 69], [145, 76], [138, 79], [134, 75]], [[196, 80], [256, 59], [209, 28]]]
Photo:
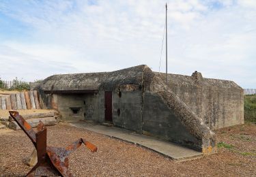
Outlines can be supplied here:
[[[94, 120], [104, 122], [104, 99], [103, 93], [84, 94], [46, 94], [43, 95], [43, 108], [57, 110], [62, 120]], [[42, 99], [42, 96], [40, 97]], [[72, 108], [79, 108], [78, 114], [72, 113]]]

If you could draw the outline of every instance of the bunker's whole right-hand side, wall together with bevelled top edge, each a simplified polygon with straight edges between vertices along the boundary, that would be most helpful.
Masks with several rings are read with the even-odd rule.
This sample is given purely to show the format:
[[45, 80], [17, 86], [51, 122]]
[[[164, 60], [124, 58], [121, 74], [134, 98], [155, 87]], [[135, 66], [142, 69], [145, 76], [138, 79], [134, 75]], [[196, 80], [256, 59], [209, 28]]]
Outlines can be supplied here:
[[[165, 74], [156, 73], [162, 80]], [[244, 123], [243, 89], [229, 80], [168, 74], [168, 86], [211, 129]]]

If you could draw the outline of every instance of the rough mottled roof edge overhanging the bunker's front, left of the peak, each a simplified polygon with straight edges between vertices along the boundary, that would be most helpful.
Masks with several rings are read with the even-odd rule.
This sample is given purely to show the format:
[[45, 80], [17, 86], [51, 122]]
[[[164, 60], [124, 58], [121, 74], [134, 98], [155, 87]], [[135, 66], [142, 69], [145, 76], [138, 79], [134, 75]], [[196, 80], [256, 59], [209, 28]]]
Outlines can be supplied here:
[[40, 89], [51, 93], [94, 93], [99, 90], [112, 91], [128, 84], [139, 87], [145, 67], [147, 66], [139, 65], [111, 72], [53, 75], [41, 82]]

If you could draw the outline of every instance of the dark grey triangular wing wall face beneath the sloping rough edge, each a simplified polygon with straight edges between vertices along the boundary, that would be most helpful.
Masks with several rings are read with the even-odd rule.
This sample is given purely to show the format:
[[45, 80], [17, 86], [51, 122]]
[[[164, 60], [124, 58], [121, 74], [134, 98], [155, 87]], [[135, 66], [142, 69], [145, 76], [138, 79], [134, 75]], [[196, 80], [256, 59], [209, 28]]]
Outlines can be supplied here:
[[198, 144], [157, 93], [143, 94], [143, 134], [186, 146]]

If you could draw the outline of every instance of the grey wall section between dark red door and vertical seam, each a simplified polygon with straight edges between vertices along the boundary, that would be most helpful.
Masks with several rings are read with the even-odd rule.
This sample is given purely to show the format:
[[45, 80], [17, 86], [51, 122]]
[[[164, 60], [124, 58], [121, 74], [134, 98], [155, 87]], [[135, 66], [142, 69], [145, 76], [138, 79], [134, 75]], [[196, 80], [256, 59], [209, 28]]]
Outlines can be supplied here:
[[142, 133], [142, 91], [113, 91], [113, 124]]

